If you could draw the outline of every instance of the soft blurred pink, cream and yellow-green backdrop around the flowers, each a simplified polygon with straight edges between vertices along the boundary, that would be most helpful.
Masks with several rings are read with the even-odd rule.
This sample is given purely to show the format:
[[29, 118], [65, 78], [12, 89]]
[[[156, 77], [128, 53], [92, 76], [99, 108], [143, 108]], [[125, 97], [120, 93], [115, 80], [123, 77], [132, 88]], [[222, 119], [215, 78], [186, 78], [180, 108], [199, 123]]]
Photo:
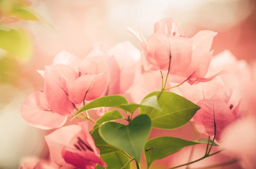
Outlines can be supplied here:
[[[36, 70], [44, 69], [62, 50], [82, 58], [93, 43], [113, 45], [126, 40], [140, 49], [125, 27], [140, 27], [147, 39], [157, 20], [172, 16], [186, 37], [204, 29], [218, 32], [214, 55], [227, 49], [249, 63], [256, 58], [255, 0], [19, 0], [40, 20], [25, 14], [10, 22], [9, 3], [16, 1], [0, 0], [0, 169], [17, 169], [22, 157], [47, 154], [46, 132], [21, 118], [20, 105], [30, 92], [44, 86]], [[9, 28], [16, 32], [5, 34]], [[163, 135], [194, 138], [189, 125]], [[179, 152], [177, 159], [187, 159], [189, 149]], [[169, 158], [154, 166], [165, 169], [169, 163], [181, 162]]]

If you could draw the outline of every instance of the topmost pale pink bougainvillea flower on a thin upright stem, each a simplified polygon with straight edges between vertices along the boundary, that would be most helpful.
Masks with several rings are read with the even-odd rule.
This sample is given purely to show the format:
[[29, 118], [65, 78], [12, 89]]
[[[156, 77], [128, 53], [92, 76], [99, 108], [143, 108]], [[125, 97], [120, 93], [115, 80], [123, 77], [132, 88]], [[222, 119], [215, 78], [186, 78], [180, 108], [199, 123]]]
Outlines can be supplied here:
[[183, 36], [180, 25], [172, 17], [157, 21], [154, 25], [154, 34], [146, 42], [140, 29], [137, 27], [127, 28], [143, 49], [144, 69], [146, 71], [169, 69], [171, 56], [170, 73], [180, 77], [189, 77], [189, 84], [195, 82], [206, 82], [212, 80], [218, 74], [209, 78], [204, 76], [212, 59], [213, 37], [217, 34], [212, 31], [200, 31], [192, 38]]

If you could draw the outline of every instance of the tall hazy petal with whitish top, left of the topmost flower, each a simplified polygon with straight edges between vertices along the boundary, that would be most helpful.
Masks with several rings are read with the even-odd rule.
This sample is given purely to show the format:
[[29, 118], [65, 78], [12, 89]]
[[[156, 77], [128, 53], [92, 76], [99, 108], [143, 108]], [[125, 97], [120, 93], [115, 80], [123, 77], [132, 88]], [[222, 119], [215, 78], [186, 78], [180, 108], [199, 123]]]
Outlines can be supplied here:
[[113, 46], [108, 55], [113, 56], [108, 61], [111, 78], [109, 95], [123, 94], [132, 86], [136, 73], [141, 69], [140, 51], [126, 41]]

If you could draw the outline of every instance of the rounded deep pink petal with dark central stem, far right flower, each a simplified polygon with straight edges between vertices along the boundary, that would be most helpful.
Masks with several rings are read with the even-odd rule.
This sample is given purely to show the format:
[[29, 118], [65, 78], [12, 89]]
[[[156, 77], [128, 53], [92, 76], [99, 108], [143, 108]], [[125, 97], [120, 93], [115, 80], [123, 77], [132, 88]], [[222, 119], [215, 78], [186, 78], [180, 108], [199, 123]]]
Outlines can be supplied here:
[[201, 107], [194, 115], [194, 123], [198, 132], [214, 135], [214, 119], [216, 124], [215, 139], [219, 142], [220, 135], [224, 128], [235, 121], [235, 116], [229, 108], [229, 105], [222, 100], [205, 99], [197, 103]]

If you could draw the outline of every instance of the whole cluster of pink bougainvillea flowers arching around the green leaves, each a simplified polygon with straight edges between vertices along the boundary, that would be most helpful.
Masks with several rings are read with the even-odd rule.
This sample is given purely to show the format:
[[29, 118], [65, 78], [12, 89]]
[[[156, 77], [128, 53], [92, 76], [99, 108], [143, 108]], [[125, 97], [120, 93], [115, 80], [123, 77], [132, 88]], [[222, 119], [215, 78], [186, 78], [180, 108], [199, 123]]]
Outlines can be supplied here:
[[[61, 52], [52, 65], [38, 71], [44, 77], [44, 91], [27, 97], [21, 115], [39, 129], [59, 128], [45, 137], [54, 163], [37, 159], [23, 163], [21, 169], [95, 169], [97, 163], [107, 167], [89, 134], [87, 120], [63, 125], [79, 108], [102, 96], [127, 94], [140, 103], [148, 93], [161, 89], [159, 71], [169, 76], [166, 88], [170, 92], [201, 107], [191, 121], [198, 132], [214, 136], [218, 143], [235, 135], [223, 136], [226, 126], [250, 117], [249, 101], [243, 97], [244, 86], [252, 83], [252, 71], [227, 51], [212, 57], [216, 32], [200, 31], [187, 38], [172, 17], [157, 21], [147, 42], [139, 28], [127, 29], [143, 52], [129, 42], [113, 47], [99, 43], [82, 60]], [[146, 72], [141, 71], [142, 66]], [[175, 85], [178, 87], [173, 88]], [[97, 114], [102, 116], [105, 111], [98, 109]]]

